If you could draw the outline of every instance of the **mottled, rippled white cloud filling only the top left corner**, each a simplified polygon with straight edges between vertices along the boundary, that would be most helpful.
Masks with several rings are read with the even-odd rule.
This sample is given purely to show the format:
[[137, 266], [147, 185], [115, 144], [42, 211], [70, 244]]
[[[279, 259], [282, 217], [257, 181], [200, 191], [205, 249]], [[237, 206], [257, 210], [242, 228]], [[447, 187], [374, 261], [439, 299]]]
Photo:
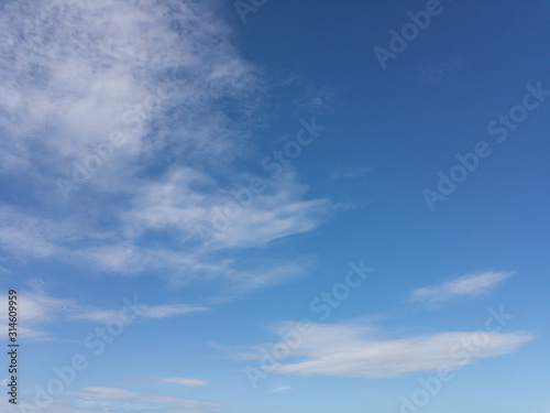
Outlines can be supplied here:
[[[196, 12], [185, 2], [72, 1], [50, 11], [46, 4], [12, 2], [2, 13], [8, 41], [1, 45], [0, 74], [8, 98], [0, 113], [13, 137], [4, 137], [6, 153], [57, 175], [72, 160], [81, 161], [88, 144], [105, 142], [116, 130], [129, 135], [117, 154], [120, 166], [176, 137], [183, 148], [173, 149], [200, 157], [238, 150], [223, 117], [229, 108], [218, 101], [256, 101], [260, 80], [212, 12]], [[160, 93], [169, 75], [176, 93]], [[168, 115], [167, 107], [176, 112]], [[177, 130], [173, 138], [164, 127], [155, 130], [152, 142], [147, 132], [158, 120]]]

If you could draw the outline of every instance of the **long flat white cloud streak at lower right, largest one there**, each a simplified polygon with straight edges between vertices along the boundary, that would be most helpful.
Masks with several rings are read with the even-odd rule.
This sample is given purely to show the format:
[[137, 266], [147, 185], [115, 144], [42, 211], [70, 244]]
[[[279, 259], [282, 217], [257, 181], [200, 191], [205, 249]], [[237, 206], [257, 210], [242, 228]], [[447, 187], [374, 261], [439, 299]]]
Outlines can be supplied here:
[[[286, 323], [279, 334], [283, 338], [296, 328]], [[510, 354], [532, 339], [526, 333], [487, 333], [486, 343], [476, 346], [476, 332], [384, 339], [361, 324], [314, 324], [311, 328], [312, 333], [304, 336], [290, 354], [297, 361], [282, 360], [276, 373], [378, 379], [415, 371], [454, 370], [480, 359]], [[279, 344], [284, 345], [284, 340]], [[474, 350], [465, 355], [466, 348]]]

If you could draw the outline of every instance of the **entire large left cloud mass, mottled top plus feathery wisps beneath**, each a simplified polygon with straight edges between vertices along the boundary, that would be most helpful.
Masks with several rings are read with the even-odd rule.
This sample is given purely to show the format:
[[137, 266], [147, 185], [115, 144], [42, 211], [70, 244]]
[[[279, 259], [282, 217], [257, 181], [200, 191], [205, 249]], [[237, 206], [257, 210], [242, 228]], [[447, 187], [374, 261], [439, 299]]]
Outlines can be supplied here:
[[[216, 13], [200, 2], [46, 4], [11, 2], [0, 15], [0, 177], [24, 182], [34, 199], [0, 204], [3, 251], [99, 273], [242, 284], [246, 274], [217, 254], [322, 224], [330, 202], [306, 199], [288, 173], [208, 247], [199, 236], [230, 191], [248, 186], [234, 161], [254, 155], [260, 164], [252, 134], [270, 118], [267, 76], [241, 57]], [[113, 132], [125, 143], [65, 200], [58, 180], [72, 181], [75, 163]], [[227, 264], [201, 265], [213, 261]], [[243, 292], [258, 285], [249, 280]]]

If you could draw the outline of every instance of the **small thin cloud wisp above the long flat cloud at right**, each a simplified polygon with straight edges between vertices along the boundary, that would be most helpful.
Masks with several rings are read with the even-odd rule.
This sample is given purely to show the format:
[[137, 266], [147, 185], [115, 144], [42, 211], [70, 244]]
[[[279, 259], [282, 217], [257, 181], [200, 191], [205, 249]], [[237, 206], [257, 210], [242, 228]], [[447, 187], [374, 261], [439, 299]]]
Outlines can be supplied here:
[[439, 304], [455, 297], [486, 295], [512, 275], [512, 272], [466, 274], [440, 285], [417, 289], [413, 291], [409, 300], [437, 307]]

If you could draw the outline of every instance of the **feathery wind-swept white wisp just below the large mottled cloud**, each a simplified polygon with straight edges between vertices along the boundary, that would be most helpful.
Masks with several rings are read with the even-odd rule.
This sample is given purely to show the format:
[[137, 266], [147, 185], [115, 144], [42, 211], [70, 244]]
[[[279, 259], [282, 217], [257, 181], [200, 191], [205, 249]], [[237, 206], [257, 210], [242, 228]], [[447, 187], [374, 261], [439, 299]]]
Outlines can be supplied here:
[[[140, 188], [132, 211], [123, 217], [124, 232], [139, 237], [147, 230], [173, 228], [182, 235], [182, 241], [202, 242], [197, 230], [201, 224], [209, 228], [211, 250], [251, 248], [310, 231], [328, 213], [327, 199], [304, 200], [307, 186], [299, 185], [296, 175], [287, 173], [277, 180], [265, 180], [264, 193], [255, 195], [235, 217], [227, 214], [226, 206], [234, 203], [230, 193], [250, 191], [249, 178], [240, 177], [233, 188], [221, 192], [204, 173], [186, 167], [174, 170], [163, 184], [150, 182]], [[216, 228], [213, 219], [222, 228]]]

